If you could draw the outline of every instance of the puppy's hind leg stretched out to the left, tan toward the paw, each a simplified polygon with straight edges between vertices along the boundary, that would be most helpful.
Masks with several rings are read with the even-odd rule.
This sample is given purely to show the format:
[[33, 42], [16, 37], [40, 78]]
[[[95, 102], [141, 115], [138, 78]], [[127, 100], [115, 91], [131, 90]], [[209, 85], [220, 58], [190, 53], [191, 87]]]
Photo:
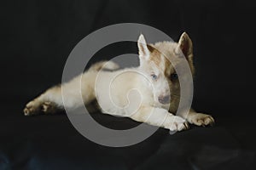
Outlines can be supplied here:
[[[41, 94], [26, 105], [24, 109], [25, 116], [37, 115], [39, 113], [52, 114], [64, 109], [64, 103], [67, 110], [73, 110], [81, 105], [90, 103], [95, 99], [95, 79], [96, 72], [88, 71], [73, 78], [70, 82], [49, 88], [44, 94]], [[64, 101], [62, 99], [62, 92]]]

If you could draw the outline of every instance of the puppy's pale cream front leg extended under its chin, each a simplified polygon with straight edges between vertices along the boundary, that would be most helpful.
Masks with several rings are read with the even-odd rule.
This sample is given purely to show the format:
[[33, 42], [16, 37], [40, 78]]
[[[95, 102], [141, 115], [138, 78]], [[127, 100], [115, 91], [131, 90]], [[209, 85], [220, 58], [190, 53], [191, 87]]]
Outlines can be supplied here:
[[152, 106], [141, 107], [131, 119], [137, 122], [146, 122], [150, 125], [164, 127], [171, 131], [181, 131], [188, 129], [189, 124], [180, 116], [174, 116], [172, 113]]

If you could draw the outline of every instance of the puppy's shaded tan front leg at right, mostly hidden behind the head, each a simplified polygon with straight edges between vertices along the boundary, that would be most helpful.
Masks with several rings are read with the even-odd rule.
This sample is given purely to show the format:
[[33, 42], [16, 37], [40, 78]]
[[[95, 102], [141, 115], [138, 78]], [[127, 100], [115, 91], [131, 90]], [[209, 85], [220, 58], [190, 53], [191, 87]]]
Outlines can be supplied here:
[[207, 126], [207, 125], [213, 125], [215, 123], [213, 117], [211, 115], [203, 114], [203, 113], [197, 113], [193, 109], [189, 111], [189, 114], [186, 115], [182, 113], [180, 116], [182, 116], [184, 119], [186, 119], [189, 123], [195, 124], [197, 126]]

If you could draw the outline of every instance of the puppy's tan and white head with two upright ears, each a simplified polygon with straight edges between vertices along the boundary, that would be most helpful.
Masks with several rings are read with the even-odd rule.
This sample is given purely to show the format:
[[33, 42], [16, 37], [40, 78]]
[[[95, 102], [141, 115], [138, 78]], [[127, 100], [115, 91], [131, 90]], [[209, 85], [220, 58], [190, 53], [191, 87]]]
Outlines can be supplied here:
[[175, 104], [179, 101], [179, 79], [185, 78], [182, 72], [177, 77], [174, 66], [181, 65], [185, 58], [188, 61], [192, 75], [195, 72], [193, 65], [192, 41], [186, 32], [183, 32], [178, 42], [156, 42], [147, 44], [143, 35], [138, 38], [140, 71], [148, 76], [154, 85], [155, 99], [162, 105]]

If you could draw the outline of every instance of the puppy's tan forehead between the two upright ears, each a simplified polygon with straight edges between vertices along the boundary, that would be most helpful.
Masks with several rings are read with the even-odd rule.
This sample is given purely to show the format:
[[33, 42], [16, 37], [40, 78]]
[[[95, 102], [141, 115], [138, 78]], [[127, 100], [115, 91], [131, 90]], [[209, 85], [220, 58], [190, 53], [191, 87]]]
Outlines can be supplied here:
[[[165, 73], [166, 76], [170, 75], [174, 71], [173, 66], [177, 61], [177, 56], [174, 53], [174, 49], [177, 48], [176, 42], [157, 42], [150, 44], [151, 57], [150, 60], [154, 62], [157, 67]], [[172, 62], [172, 64], [171, 64]]]

